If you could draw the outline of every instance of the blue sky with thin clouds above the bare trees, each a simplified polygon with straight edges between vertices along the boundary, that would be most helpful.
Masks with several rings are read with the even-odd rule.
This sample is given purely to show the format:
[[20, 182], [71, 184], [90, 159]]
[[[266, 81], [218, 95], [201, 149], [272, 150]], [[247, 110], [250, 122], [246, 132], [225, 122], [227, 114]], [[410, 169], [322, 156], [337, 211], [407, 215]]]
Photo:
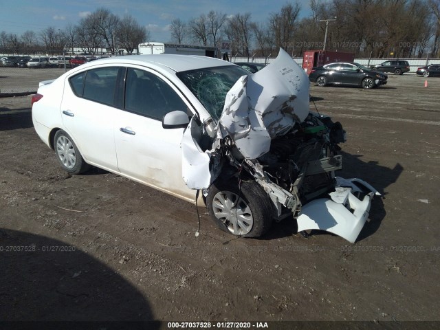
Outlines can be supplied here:
[[[300, 17], [310, 14], [309, 0], [297, 0], [301, 5]], [[109, 9], [118, 17], [130, 14], [137, 23], [151, 33], [151, 40], [170, 41], [168, 25], [173, 19], [189, 21], [210, 10], [227, 15], [251, 13], [254, 22], [265, 22], [269, 15], [279, 12], [287, 0], [0, 0], [0, 32], [17, 34], [32, 30], [39, 33], [49, 26], [63, 30], [69, 23], [98, 8]]]

